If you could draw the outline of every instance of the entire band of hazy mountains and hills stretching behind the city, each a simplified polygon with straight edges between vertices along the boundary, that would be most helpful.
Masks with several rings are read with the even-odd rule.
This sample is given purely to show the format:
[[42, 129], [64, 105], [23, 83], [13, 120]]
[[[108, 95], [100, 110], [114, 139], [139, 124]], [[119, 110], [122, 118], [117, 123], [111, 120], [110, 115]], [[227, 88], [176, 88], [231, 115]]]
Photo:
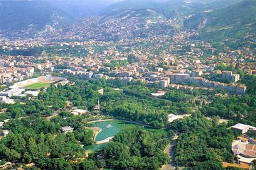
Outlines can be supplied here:
[[83, 16], [92, 15], [83, 8], [95, 4], [87, 7], [86, 3], [81, 4], [75, 13], [78, 1], [81, 0], [70, 6], [68, 1], [19, 4], [0, 1], [0, 33], [7, 37], [16, 32], [14, 37], [18, 34], [36, 38], [118, 40], [172, 35], [188, 29], [199, 32], [196, 39], [225, 40], [253, 33], [256, 28], [255, 0], [126, 0], [115, 4], [105, 0], [106, 4], [97, 8], [101, 11], [97, 16], [80, 21]]

